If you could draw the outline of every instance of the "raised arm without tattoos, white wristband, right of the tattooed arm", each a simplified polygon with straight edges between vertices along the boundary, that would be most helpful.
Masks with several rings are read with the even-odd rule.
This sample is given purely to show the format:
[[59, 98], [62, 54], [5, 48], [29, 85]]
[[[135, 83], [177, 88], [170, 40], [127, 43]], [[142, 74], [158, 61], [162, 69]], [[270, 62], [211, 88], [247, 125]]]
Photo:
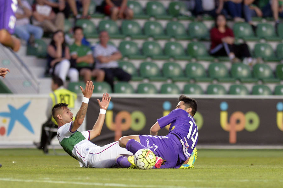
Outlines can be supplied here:
[[97, 121], [95, 122], [92, 130], [89, 131], [90, 132], [89, 140], [92, 140], [93, 138], [100, 135], [100, 132], [101, 132], [104, 120], [105, 120], [105, 113], [106, 113], [106, 110], [108, 108], [110, 100], [111, 100], [111, 97], [109, 96], [108, 93], [103, 94], [101, 102], [100, 102], [99, 99], [97, 99], [98, 105], [100, 107], [100, 112], [99, 112], [99, 116], [98, 116]]

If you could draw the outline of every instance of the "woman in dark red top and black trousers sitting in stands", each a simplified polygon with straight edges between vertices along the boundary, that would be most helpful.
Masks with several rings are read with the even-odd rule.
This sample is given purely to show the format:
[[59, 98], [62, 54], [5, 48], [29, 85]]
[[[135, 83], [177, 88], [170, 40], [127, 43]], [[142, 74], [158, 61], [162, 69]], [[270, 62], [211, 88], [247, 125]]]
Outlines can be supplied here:
[[246, 64], [252, 64], [252, 57], [247, 44], [234, 44], [233, 31], [226, 25], [226, 18], [219, 14], [215, 19], [215, 27], [210, 30], [211, 47], [213, 56], [229, 56], [232, 62], [238, 62], [238, 58], [244, 58]]

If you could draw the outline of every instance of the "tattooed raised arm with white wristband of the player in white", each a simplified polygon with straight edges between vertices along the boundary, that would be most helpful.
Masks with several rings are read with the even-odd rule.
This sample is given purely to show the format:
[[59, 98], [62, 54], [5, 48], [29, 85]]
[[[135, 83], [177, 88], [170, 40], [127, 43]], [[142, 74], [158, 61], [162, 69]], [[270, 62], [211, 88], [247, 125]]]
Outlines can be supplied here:
[[75, 121], [72, 123], [72, 126], [71, 126], [72, 132], [75, 132], [81, 126], [81, 124], [83, 123], [85, 119], [88, 101], [92, 97], [94, 85], [92, 84], [92, 81], [87, 81], [85, 90], [81, 86], [80, 86], [80, 89], [84, 95], [84, 98], [80, 106], [80, 110], [78, 111], [75, 117]]

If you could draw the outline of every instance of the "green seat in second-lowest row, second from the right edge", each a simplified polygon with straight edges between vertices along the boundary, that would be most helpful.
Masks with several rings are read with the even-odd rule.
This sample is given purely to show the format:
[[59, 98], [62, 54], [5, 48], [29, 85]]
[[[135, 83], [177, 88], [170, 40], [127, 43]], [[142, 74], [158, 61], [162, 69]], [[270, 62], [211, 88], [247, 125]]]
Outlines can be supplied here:
[[280, 80], [274, 78], [273, 71], [266, 64], [255, 64], [253, 66], [253, 76], [254, 78], [258, 78], [263, 82], [279, 82]]

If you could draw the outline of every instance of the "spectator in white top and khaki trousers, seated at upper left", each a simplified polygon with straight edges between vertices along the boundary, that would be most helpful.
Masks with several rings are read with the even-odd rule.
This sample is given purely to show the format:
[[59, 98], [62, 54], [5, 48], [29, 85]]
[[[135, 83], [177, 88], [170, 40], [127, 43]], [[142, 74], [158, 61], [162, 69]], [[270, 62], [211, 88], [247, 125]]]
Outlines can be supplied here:
[[64, 14], [61, 12], [56, 14], [46, 0], [36, 0], [33, 11], [34, 25], [41, 26], [46, 32], [64, 31]]

